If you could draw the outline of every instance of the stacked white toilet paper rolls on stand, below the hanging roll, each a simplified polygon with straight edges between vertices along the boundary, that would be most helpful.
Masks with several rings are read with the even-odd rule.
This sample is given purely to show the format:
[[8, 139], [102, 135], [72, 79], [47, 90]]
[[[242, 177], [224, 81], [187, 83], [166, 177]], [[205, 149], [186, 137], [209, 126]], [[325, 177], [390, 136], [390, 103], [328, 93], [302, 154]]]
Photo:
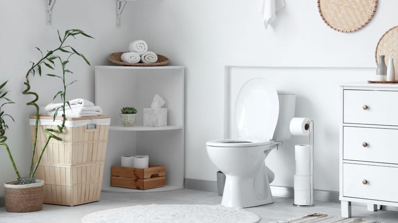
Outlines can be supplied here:
[[294, 176], [295, 204], [313, 204], [314, 150], [310, 145], [296, 145], [296, 174]]

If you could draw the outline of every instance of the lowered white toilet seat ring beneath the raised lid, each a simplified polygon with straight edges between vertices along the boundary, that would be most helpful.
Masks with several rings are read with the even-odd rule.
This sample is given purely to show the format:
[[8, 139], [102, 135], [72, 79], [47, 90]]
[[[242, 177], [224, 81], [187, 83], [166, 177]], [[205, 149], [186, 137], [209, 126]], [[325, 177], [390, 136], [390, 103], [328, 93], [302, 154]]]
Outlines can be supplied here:
[[206, 146], [215, 147], [250, 147], [250, 146], [264, 146], [271, 144], [271, 140], [259, 139], [220, 139], [206, 142]]

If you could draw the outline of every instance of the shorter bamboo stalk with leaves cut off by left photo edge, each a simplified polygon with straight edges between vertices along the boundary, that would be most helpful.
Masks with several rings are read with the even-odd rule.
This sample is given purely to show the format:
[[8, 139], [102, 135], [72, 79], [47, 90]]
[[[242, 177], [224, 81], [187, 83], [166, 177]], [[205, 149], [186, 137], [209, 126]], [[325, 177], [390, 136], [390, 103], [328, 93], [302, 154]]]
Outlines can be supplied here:
[[2, 83], [2, 85], [0, 85], [0, 100], [2, 100], [2, 103], [4, 102], [0, 106], [0, 145], [4, 146], [6, 148], [8, 156], [10, 157], [10, 160], [12, 163], [12, 167], [14, 167], [14, 171], [15, 171], [17, 177], [21, 178], [20, 173], [18, 172], [18, 169], [15, 165], [14, 159], [12, 158], [10, 148], [8, 148], [8, 145], [6, 144], [6, 140], [7, 140], [6, 129], [8, 129], [8, 125], [6, 124], [6, 121], [4, 120], [4, 118], [5, 117], [11, 118], [12, 121], [14, 121], [14, 118], [9, 114], [4, 113], [4, 111], [2, 111], [2, 108], [6, 104], [14, 104], [15, 103], [12, 100], [5, 97], [7, 95], [7, 93], [10, 92], [10, 90], [3, 90], [3, 88], [6, 86], [7, 82], [8, 81], [6, 81], [6, 82]]

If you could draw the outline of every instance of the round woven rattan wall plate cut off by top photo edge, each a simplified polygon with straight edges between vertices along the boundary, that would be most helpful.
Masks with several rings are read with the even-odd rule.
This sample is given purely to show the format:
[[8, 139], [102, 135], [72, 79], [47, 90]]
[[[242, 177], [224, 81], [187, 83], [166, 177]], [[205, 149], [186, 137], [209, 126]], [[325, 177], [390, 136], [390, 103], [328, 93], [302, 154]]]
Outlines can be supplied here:
[[328, 27], [351, 33], [364, 27], [376, 12], [377, 0], [318, 0], [318, 10]]

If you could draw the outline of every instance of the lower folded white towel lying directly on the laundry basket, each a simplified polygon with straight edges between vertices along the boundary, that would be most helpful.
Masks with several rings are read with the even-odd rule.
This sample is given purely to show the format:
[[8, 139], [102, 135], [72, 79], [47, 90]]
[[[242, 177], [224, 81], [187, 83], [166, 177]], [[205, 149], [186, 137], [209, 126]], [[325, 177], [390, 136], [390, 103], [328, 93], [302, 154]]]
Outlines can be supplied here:
[[[62, 109], [58, 110], [57, 117], [62, 117], [64, 112]], [[39, 115], [41, 116], [50, 116], [54, 117], [55, 110], [47, 111], [45, 107], [39, 108]], [[67, 118], [77, 118], [77, 117], [89, 117], [89, 116], [98, 116], [102, 114], [102, 109], [99, 106], [92, 107], [80, 107], [65, 110], [65, 115]]]

